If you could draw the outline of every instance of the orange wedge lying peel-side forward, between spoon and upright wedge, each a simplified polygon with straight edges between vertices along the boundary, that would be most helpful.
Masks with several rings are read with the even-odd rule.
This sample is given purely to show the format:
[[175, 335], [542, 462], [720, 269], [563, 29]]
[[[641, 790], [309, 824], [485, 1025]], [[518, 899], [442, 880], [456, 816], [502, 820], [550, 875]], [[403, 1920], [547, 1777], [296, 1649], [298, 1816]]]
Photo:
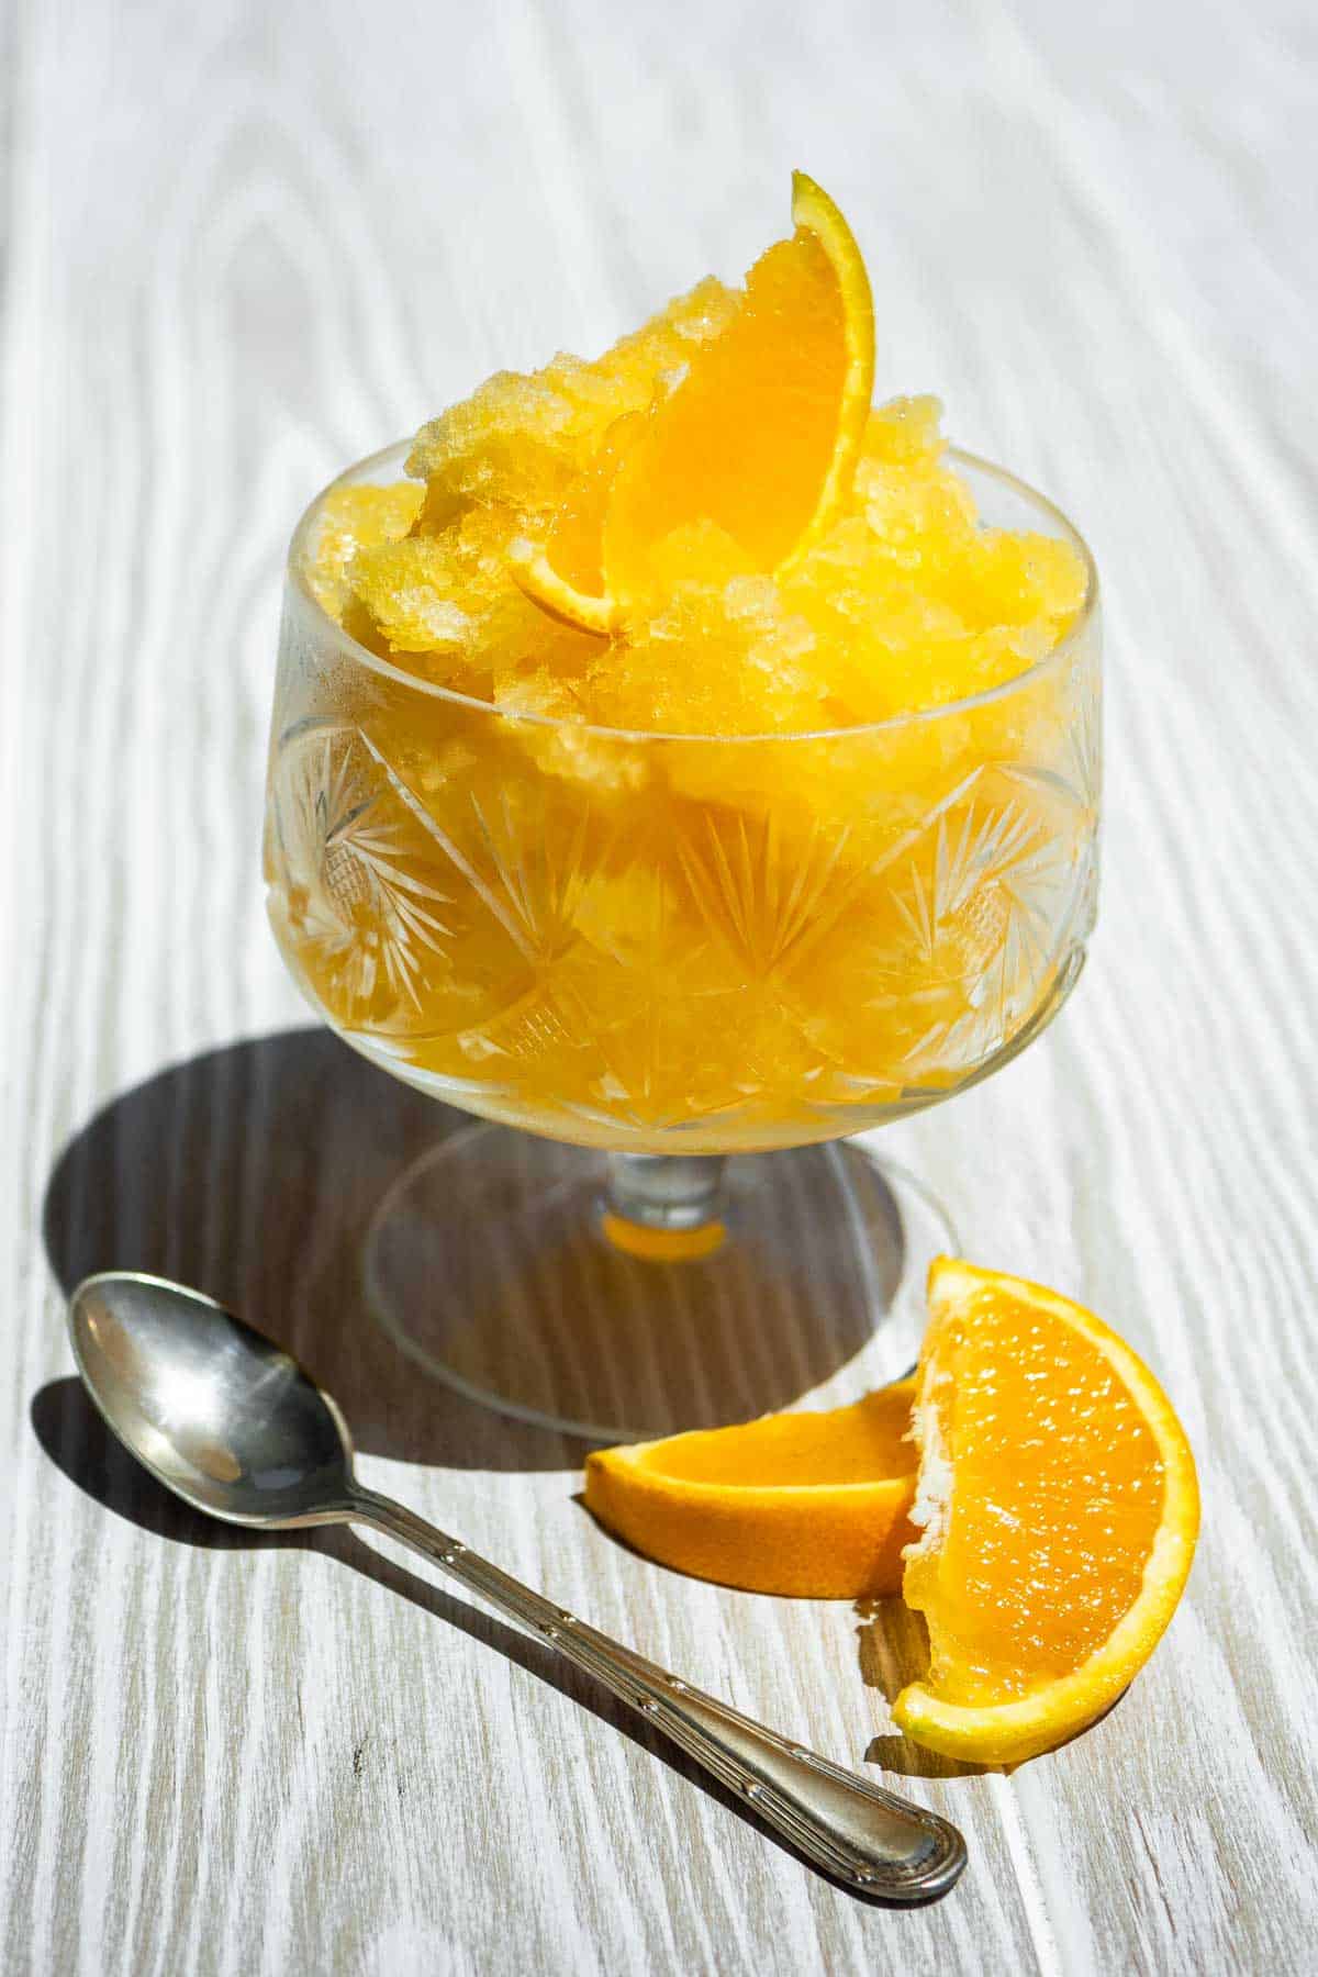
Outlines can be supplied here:
[[698, 1580], [810, 1599], [891, 1593], [915, 1536], [913, 1396], [903, 1380], [830, 1414], [603, 1449], [587, 1455], [585, 1501], [638, 1552]]

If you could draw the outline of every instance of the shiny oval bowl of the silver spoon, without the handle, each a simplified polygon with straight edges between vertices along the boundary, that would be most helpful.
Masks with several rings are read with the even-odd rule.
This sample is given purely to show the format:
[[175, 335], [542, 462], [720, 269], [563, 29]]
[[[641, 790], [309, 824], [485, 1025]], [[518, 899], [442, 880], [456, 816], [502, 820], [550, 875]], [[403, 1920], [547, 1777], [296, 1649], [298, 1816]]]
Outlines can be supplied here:
[[79, 1283], [69, 1336], [83, 1384], [144, 1469], [225, 1524], [334, 1524], [352, 1437], [298, 1362], [202, 1291], [107, 1271]]

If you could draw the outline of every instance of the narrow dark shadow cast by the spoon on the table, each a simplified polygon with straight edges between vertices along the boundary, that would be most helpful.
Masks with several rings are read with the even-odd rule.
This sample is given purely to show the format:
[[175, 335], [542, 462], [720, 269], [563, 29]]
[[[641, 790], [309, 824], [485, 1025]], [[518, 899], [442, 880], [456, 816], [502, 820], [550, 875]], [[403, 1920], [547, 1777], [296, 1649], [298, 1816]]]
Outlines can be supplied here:
[[[213, 1552], [273, 1548], [320, 1552], [336, 1558], [371, 1584], [397, 1593], [423, 1613], [447, 1621], [470, 1641], [478, 1641], [480, 1647], [504, 1655], [514, 1667], [524, 1669], [557, 1690], [557, 1694], [577, 1702], [599, 1722], [609, 1724], [611, 1730], [617, 1730], [630, 1744], [658, 1758], [678, 1777], [696, 1785], [725, 1811], [753, 1827], [761, 1839], [777, 1847], [788, 1860], [796, 1860], [812, 1874], [818, 1874], [820, 1880], [838, 1888], [840, 1894], [850, 1896], [865, 1908], [883, 1908], [897, 1914], [903, 1906], [927, 1906], [887, 1902], [881, 1896], [867, 1894], [822, 1872], [773, 1827], [757, 1819], [735, 1793], [727, 1791], [701, 1765], [686, 1758], [678, 1746], [652, 1732], [640, 1716], [617, 1702], [607, 1690], [601, 1690], [573, 1663], [547, 1647], [547, 1643], [524, 1635], [516, 1627], [508, 1627], [506, 1621], [484, 1613], [476, 1605], [468, 1605], [439, 1586], [431, 1586], [415, 1572], [407, 1572], [358, 1538], [350, 1526], [330, 1524], [310, 1530], [253, 1532], [192, 1510], [128, 1455], [93, 1408], [81, 1380], [51, 1380], [40, 1388], [32, 1398], [30, 1419], [45, 1455], [85, 1497], [91, 1497], [93, 1503], [115, 1516], [124, 1518], [124, 1522], [136, 1524], [138, 1530], [148, 1532], [152, 1538], [164, 1538], [172, 1544], [192, 1544]], [[931, 1896], [931, 1900], [941, 1898]]]

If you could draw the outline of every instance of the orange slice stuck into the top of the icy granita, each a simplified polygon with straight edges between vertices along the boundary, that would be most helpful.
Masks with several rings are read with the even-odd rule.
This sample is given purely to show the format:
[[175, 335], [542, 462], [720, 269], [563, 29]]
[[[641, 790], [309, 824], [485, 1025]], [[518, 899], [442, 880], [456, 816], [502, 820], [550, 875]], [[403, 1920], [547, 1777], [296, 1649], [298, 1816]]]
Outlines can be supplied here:
[[611, 429], [549, 536], [514, 544], [510, 569], [543, 611], [611, 633], [664, 589], [664, 544], [678, 544], [686, 575], [701, 575], [701, 542], [719, 561], [775, 573], [838, 514], [873, 393], [869, 277], [804, 172], [792, 174], [792, 221], [686, 376]]

